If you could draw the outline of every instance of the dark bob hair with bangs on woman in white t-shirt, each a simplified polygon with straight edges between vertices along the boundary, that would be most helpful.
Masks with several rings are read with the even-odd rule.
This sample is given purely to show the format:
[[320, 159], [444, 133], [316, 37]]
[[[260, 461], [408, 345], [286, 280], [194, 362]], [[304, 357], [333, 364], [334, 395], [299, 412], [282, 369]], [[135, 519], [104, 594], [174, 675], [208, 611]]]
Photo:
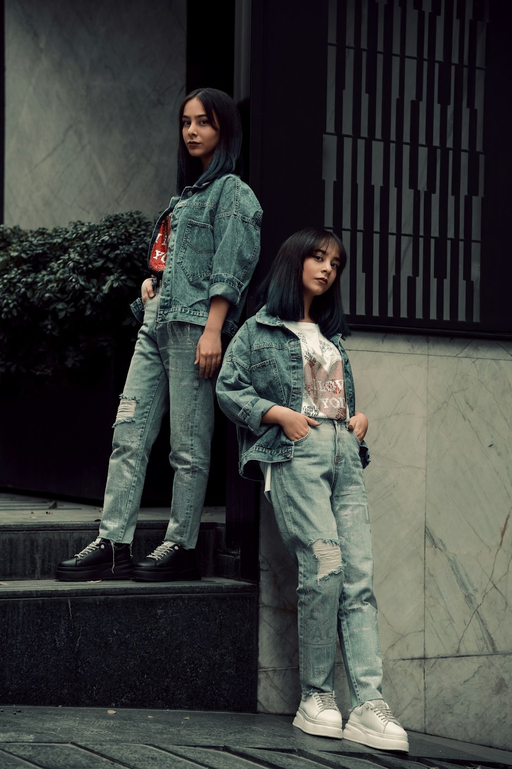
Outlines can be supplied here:
[[339, 253], [339, 269], [332, 286], [325, 294], [316, 296], [310, 315], [318, 323], [325, 337], [350, 334], [342, 306], [339, 276], [347, 263], [347, 253], [338, 235], [329, 230], [308, 228], [290, 235], [281, 245], [276, 258], [262, 285], [262, 301], [270, 315], [282, 321], [300, 321], [304, 318], [304, 293], [302, 268], [307, 257], [315, 251], [335, 245]]

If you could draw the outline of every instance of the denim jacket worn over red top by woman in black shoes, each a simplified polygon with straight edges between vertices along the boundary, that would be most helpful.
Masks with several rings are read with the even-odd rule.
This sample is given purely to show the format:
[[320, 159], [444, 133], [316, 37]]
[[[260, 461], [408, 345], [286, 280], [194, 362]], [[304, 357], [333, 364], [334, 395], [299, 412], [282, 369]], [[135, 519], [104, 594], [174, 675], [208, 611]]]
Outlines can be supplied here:
[[[210, 299], [223, 296], [230, 301], [223, 331], [233, 336], [259, 257], [263, 212], [256, 195], [234, 174], [186, 187], [182, 195], [171, 198], [154, 226], [148, 264], [160, 225], [171, 212], [157, 320], [204, 326]], [[131, 309], [142, 322], [140, 297]]]

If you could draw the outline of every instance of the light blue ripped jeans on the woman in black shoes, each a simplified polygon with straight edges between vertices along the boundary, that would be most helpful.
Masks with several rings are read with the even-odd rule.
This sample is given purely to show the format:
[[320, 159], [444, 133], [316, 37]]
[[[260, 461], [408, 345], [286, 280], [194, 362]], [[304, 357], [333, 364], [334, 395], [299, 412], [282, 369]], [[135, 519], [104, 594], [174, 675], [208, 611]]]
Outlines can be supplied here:
[[210, 470], [215, 377], [200, 378], [193, 365], [203, 327], [157, 323], [160, 286], [144, 307], [127, 381], [114, 422], [100, 536], [134, 538], [147, 460], [169, 410], [174, 471], [170, 522], [165, 538], [195, 548]]

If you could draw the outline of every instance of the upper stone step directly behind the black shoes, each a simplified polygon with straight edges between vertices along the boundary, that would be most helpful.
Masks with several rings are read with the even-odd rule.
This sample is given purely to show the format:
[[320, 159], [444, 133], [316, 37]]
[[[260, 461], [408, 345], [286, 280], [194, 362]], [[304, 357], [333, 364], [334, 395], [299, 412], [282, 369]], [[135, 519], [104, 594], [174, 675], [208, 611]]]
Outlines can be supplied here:
[[[53, 578], [55, 567], [97, 537], [101, 508], [0, 494], [0, 581]], [[239, 559], [225, 551], [225, 510], [204, 508], [197, 541], [200, 573], [237, 578]], [[165, 508], [140, 511], [132, 553], [145, 558], [164, 539]]]

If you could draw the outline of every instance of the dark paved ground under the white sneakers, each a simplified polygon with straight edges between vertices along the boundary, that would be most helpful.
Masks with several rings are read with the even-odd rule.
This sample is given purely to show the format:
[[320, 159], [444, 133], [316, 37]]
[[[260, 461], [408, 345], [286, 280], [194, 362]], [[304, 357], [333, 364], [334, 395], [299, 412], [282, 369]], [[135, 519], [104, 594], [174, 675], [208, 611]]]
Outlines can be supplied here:
[[409, 743], [399, 754], [310, 737], [286, 716], [0, 705], [1, 769], [512, 767], [508, 751], [411, 732]]

